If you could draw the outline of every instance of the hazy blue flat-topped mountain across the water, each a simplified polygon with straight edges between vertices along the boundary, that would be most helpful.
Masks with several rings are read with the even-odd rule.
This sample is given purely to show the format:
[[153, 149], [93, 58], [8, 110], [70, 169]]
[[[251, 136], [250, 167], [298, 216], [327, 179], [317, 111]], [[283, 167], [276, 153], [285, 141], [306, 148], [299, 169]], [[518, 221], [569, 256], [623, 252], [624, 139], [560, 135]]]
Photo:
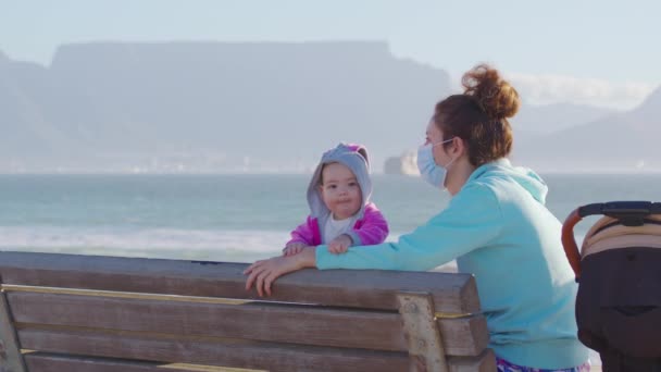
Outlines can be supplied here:
[[376, 162], [420, 142], [448, 91], [444, 71], [382, 42], [67, 45], [50, 67], [0, 62], [0, 128], [11, 134], [0, 154], [312, 164], [350, 140]]

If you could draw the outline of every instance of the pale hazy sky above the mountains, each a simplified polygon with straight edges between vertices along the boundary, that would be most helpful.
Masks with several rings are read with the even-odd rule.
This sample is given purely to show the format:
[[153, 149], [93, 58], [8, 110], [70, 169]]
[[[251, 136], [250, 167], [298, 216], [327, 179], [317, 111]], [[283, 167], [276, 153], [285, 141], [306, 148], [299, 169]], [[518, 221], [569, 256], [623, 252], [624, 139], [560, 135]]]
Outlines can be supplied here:
[[450, 72], [495, 64], [529, 100], [627, 109], [661, 85], [661, 1], [0, 0], [0, 51], [61, 44], [385, 40]]

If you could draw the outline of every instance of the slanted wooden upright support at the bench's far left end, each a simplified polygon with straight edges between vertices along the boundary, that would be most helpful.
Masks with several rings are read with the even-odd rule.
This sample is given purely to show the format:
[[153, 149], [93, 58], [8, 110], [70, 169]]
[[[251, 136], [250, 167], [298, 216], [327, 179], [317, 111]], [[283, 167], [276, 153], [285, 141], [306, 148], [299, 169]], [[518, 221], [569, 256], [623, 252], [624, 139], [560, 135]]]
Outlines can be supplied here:
[[7, 295], [0, 292], [0, 371], [25, 372]]

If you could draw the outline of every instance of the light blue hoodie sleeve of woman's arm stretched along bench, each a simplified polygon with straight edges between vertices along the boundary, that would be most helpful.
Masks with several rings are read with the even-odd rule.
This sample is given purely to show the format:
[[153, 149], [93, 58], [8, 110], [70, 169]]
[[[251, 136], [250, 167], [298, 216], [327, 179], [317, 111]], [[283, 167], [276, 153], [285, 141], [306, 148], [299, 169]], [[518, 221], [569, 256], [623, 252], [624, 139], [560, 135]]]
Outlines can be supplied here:
[[397, 243], [351, 247], [345, 255], [316, 249], [319, 269], [431, 270], [476, 248], [502, 231], [498, 200], [486, 186], [469, 184], [432, 218]]

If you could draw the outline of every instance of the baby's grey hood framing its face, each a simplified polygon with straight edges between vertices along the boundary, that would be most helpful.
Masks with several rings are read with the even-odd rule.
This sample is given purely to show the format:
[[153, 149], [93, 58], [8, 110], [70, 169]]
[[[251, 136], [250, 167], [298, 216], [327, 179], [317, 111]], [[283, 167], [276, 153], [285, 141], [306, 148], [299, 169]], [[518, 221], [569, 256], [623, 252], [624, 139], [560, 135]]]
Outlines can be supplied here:
[[312, 174], [312, 179], [310, 179], [310, 185], [308, 186], [308, 204], [310, 204], [310, 212], [312, 216], [321, 218], [330, 212], [322, 200], [319, 191], [322, 170], [325, 164], [330, 163], [340, 163], [346, 165], [356, 176], [363, 197], [362, 207], [358, 212], [359, 218], [362, 218], [365, 210], [365, 204], [370, 202], [370, 197], [372, 196], [372, 179], [370, 178], [370, 160], [367, 157], [367, 149], [362, 145], [344, 142], [324, 152], [319, 165], [316, 165], [316, 169]]

